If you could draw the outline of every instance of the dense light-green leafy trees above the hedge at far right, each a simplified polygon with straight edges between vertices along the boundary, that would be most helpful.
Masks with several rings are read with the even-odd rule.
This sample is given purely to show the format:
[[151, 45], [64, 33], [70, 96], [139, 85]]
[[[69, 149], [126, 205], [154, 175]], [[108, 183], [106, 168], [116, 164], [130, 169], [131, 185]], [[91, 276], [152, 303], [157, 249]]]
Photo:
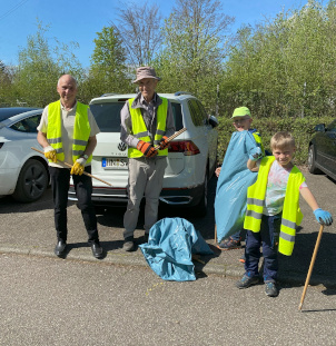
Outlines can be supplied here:
[[334, 111], [336, 1], [308, 1], [256, 28], [241, 28], [225, 65], [223, 102], [259, 116]]

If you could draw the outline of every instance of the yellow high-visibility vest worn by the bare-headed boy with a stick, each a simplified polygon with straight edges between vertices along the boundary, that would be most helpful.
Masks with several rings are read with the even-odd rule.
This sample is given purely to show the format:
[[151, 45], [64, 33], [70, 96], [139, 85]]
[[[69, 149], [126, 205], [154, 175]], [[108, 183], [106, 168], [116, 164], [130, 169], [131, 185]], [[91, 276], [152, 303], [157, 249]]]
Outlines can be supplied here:
[[[245, 229], [255, 233], [260, 230], [268, 172], [274, 160], [274, 156], [266, 156], [261, 159], [257, 181], [247, 189], [247, 210], [244, 220]], [[305, 177], [299, 169], [294, 166], [289, 172], [286, 187], [279, 235], [279, 253], [287, 256], [290, 256], [293, 253], [296, 227], [299, 226], [303, 220], [303, 214], [299, 208], [299, 187], [304, 181]]]

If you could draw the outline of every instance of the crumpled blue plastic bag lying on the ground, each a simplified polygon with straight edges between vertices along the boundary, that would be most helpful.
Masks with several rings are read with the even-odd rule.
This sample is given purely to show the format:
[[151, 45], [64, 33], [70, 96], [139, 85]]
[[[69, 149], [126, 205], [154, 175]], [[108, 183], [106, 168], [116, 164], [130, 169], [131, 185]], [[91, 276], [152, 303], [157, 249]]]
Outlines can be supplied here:
[[164, 218], [149, 231], [140, 249], [151, 269], [164, 280], [196, 280], [192, 254], [213, 255], [192, 224], [182, 218]]

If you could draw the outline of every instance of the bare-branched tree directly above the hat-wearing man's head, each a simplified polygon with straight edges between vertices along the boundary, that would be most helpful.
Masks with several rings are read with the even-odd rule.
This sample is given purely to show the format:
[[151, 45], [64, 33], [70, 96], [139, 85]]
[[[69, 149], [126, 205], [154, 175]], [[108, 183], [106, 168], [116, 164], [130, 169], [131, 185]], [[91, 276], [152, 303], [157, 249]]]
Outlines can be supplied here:
[[162, 42], [158, 6], [125, 3], [117, 22], [118, 26], [112, 22], [112, 27], [122, 40], [128, 62], [134, 66], [150, 65]]

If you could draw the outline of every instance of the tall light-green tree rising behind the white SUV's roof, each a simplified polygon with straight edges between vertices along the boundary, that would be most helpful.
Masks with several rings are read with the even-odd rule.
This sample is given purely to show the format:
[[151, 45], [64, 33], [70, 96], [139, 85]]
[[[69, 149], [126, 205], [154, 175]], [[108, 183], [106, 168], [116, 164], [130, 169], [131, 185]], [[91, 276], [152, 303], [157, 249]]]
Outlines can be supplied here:
[[156, 60], [165, 91], [186, 90], [215, 110], [226, 55], [225, 31], [234, 21], [215, 0], [177, 0], [166, 20], [165, 48]]

